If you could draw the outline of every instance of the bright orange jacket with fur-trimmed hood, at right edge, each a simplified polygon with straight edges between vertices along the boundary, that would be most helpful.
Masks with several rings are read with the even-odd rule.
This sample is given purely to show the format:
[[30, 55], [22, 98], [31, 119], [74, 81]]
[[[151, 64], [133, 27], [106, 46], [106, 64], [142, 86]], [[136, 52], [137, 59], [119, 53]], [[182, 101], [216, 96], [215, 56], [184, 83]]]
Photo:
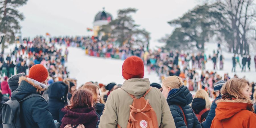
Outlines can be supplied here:
[[223, 100], [217, 102], [216, 116], [211, 128], [256, 128], [253, 104], [246, 100]]

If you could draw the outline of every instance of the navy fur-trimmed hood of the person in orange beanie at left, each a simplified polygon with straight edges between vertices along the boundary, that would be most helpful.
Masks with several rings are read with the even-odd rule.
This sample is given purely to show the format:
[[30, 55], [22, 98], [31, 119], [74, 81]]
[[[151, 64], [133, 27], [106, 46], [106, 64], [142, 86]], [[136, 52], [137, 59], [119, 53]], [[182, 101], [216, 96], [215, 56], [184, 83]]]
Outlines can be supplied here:
[[33, 93], [42, 94], [46, 87], [45, 84], [24, 76], [19, 78], [19, 83], [18, 88], [12, 93], [12, 98], [18, 101]]

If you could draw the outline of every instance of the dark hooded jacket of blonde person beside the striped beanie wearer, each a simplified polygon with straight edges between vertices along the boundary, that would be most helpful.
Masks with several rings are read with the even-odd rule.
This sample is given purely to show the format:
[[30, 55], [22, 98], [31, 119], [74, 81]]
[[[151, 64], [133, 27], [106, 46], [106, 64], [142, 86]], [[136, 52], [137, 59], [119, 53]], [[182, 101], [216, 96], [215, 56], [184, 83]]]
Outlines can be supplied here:
[[[195, 112], [195, 114], [199, 114], [202, 110], [205, 109], [205, 99], [201, 99], [201, 98], [194, 98], [192, 101], [192, 109]], [[201, 121], [199, 120], [199, 122], [202, 122], [203, 119], [206, 119], [207, 115], [209, 113], [209, 110], [206, 111], [205, 113], [203, 113], [201, 115]], [[198, 117], [199, 118], [199, 117]]]

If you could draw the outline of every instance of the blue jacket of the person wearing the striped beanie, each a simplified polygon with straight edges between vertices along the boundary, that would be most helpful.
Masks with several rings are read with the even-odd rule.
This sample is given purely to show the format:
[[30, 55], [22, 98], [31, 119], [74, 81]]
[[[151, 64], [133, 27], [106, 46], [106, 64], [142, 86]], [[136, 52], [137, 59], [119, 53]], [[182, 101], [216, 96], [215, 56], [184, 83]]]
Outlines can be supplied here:
[[210, 108], [210, 112], [208, 113], [208, 115], [206, 117], [206, 120], [201, 123], [203, 128], [210, 128], [211, 127], [212, 120], [215, 117], [215, 109], [217, 107], [216, 100], [221, 99], [221, 97], [222, 96], [219, 95], [218, 97], [216, 97], [215, 100], [213, 100], [211, 108]]

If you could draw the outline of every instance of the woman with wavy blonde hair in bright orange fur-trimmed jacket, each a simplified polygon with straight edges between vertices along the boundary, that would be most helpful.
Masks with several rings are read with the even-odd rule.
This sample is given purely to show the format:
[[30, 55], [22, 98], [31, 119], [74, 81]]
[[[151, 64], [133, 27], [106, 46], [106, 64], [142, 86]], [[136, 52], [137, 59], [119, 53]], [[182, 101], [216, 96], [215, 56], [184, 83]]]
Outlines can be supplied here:
[[211, 128], [256, 127], [256, 114], [249, 89], [249, 82], [240, 78], [230, 79], [222, 86], [222, 99], [216, 101], [216, 116]]

